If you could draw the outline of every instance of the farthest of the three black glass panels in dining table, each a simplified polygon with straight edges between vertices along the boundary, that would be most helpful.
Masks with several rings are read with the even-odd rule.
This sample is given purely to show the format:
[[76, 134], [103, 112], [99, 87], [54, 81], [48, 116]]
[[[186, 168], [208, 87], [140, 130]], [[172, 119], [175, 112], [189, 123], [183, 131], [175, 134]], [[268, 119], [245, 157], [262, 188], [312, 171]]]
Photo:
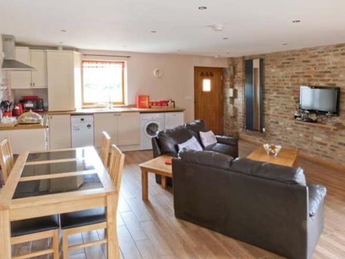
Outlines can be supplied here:
[[30, 153], [26, 162], [39, 162], [46, 160], [61, 160], [84, 157], [86, 149], [68, 150], [68, 151], [53, 151], [42, 153]]

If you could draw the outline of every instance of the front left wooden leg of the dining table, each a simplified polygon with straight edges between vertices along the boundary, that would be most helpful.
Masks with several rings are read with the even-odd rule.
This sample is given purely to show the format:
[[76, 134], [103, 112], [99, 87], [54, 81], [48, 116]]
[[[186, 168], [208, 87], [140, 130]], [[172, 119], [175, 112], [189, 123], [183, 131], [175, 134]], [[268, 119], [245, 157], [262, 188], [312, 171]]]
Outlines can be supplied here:
[[8, 210], [0, 211], [0, 258], [12, 258], [10, 215]]

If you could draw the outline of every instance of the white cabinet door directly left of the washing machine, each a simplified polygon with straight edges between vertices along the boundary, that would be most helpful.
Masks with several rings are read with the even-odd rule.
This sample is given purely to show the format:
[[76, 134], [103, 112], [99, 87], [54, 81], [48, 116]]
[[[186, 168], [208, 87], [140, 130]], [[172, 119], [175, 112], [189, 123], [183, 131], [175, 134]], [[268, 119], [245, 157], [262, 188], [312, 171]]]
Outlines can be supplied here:
[[120, 113], [117, 122], [117, 142], [119, 146], [140, 143], [139, 113]]

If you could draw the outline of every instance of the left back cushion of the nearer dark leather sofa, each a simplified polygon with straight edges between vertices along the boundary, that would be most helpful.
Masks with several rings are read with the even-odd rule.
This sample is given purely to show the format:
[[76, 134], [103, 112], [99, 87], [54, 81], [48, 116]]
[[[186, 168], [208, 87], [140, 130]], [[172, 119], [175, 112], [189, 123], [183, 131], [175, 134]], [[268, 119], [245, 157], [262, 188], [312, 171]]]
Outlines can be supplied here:
[[179, 158], [184, 162], [210, 166], [213, 168], [229, 170], [233, 157], [213, 151], [194, 151], [182, 148], [179, 151]]

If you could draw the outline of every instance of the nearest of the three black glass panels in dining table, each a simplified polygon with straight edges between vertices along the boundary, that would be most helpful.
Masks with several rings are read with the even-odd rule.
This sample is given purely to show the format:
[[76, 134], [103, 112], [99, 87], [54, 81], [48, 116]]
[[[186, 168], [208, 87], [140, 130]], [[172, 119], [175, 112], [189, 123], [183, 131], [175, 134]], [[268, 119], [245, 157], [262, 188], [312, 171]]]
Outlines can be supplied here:
[[18, 182], [13, 199], [103, 188], [97, 173]]

